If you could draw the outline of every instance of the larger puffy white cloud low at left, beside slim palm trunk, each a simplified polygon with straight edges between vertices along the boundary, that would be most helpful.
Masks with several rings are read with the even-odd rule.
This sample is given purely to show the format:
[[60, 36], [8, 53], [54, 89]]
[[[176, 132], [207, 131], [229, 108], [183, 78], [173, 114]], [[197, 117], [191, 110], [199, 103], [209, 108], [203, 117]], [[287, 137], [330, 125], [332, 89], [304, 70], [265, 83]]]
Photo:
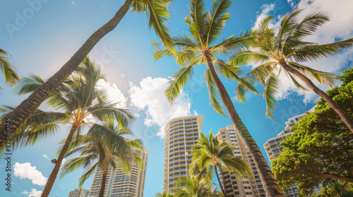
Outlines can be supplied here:
[[30, 163], [18, 163], [13, 165], [13, 171], [16, 177], [20, 179], [30, 179], [32, 184], [44, 186], [47, 183], [47, 178], [43, 176], [42, 172], [31, 166]]

